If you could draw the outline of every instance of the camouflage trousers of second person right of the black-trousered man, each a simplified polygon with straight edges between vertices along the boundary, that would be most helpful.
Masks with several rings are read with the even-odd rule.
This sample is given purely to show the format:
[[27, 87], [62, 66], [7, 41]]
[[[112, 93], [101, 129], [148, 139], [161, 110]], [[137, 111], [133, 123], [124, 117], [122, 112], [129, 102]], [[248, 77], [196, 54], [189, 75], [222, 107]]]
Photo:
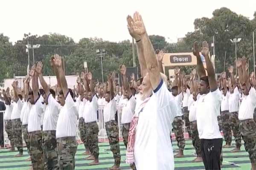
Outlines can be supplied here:
[[239, 130], [239, 119], [238, 113], [232, 112], [230, 113], [230, 127], [233, 131], [233, 135], [236, 141], [236, 147], [241, 147], [241, 132]]

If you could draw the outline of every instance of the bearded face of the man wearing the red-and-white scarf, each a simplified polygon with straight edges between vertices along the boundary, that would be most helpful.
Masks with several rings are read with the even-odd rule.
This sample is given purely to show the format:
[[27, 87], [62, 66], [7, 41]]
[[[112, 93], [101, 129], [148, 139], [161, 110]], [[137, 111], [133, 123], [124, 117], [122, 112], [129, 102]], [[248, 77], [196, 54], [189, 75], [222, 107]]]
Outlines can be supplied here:
[[141, 100], [146, 99], [152, 94], [151, 82], [148, 74], [144, 77], [142, 84], [139, 86]]

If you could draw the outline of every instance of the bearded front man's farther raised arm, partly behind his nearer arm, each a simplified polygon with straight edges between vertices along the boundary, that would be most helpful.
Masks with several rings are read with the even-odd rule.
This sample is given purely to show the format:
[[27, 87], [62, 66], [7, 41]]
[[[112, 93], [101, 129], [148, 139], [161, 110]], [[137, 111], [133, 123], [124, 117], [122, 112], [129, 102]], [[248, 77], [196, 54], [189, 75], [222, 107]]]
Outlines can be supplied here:
[[137, 44], [137, 54], [138, 54], [138, 59], [140, 63], [140, 73], [142, 77], [145, 77], [148, 71], [147, 71], [147, 65], [146, 65], [146, 61], [143, 53], [143, 44], [141, 41], [141, 36], [140, 34], [137, 33], [136, 30], [134, 30], [134, 20], [129, 15], [127, 17], [127, 23], [128, 23], [127, 25], [128, 31], [131, 37], [135, 39]]

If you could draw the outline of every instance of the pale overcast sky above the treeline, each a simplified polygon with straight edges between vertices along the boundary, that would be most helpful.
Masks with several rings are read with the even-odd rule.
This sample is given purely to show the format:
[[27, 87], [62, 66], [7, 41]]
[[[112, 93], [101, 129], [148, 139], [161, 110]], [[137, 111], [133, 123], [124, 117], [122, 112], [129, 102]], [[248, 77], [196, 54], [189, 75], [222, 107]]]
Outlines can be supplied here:
[[194, 31], [196, 18], [210, 18], [221, 7], [252, 19], [256, 0], [1, 0], [0, 6], [0, 33], [13, 43], [29, 32], [64, 34], [76, 42], [84, 37], [128, 40], [126, 17], [135, 11], [149, 35], [177, 42]]

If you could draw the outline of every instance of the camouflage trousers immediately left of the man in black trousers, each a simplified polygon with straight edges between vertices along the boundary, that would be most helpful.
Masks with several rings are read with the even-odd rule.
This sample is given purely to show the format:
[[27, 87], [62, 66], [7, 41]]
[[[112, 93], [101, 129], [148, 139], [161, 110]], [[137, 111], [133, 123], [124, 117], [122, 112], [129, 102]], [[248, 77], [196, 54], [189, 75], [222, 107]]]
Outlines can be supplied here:
[[192, 144], [198, 157], [201, 156], [201, 140], [199, 139], [196, 121], [190, 122], [190, 130], [192, 133]]

